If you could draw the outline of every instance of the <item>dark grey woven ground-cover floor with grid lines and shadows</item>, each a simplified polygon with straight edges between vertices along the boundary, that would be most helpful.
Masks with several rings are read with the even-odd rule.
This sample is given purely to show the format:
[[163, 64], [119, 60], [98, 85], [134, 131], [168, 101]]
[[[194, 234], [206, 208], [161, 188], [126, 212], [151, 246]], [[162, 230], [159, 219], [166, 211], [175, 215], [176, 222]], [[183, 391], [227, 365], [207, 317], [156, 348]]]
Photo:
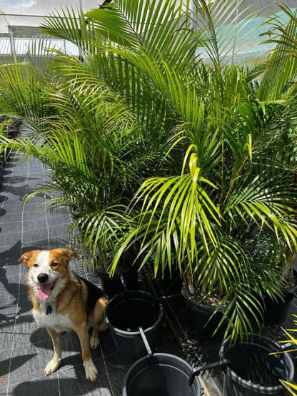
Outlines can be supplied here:
[[[51, 340], [46, 330], [34, 323], [24, 284], [26, 268], [17, 262], [27, 250], [58, 248], [67, 242], [66, 229], [71, 217], [66, 210], [46, 212], [42, 196], [20, 205], [24, 194], [33, 191], [44, 178], [46, 169], [39, 161], [30, 158], [25, 163], [19, 154], [7, 163], [0, 190], [0, 395], [121, 396], [129, 365], [114, 354], [109, 331], [101, 334], [101, 345], [93, 352], [99, 369], [95, 383], [84, 376], [79, 342], [74, 333], [63, 336], [64, 355], [59, 370], [44, 377], [44, 367], [53, 353]], [[79, 275], [98, 283], [96, 275], [86, 270], [79, 260], [71, 265]], [[158, 293], [158, 285], [153, 285], [152, 291]], [[172, 298], [164, 303], [164, 308], [168, 320], [164, 321], [156, 351], [179, 355], [193, 367], [216, 362], [220, 342], [201, 344], [191, 337], [181, 298]], [[296, 300], [292, 312], [297, 313]], [[283, 327], [292, 327], [291, 315]], [[276, 340], [283, 338], [277, 326], [265, 328], [263, 333]], [[204, 395], [223, 394], [220, 369], [203, 372], [201, 383]]]

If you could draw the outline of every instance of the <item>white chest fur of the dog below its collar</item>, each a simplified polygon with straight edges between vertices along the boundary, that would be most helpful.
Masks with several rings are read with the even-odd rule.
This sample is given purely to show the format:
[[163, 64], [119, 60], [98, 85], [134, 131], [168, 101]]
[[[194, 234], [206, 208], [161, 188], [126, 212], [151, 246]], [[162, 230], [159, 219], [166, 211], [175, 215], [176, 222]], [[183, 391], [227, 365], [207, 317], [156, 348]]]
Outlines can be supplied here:
[[46, 315], [46, 309], [41, 307], [39, 310], [33, 310], [33, 315], [41, 328], [51, 328], [56, 330], [56, 332], [69, 332], [74, 330], [74, 324], [69, 316], [56, 313], [54, 308], [52, 308], [51, 313]]

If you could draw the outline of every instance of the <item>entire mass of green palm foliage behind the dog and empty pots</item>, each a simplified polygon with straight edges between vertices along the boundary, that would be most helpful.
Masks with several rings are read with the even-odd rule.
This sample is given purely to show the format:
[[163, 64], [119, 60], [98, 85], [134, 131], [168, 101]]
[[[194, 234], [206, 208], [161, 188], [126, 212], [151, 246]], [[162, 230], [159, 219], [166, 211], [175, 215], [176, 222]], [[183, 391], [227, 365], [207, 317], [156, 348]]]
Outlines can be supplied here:
[[242, 6], [57, 11], [42, 30], [79, 58], [44, 39], [0, 67], [1, 111], [31, 127], [1, 144], [49, 166], [42, 191], [74, 208], [84, 258], [111, 274], [126, 257], [153, 260], [155, 274], [178, 268], [188, 293], [216, 298], [233, 340], [261, 326], [297, 246], [297, 17], [283, 6], [286, 27], [267, 21], [270, 56], [242, 64], [236, 34], [257, 15]]

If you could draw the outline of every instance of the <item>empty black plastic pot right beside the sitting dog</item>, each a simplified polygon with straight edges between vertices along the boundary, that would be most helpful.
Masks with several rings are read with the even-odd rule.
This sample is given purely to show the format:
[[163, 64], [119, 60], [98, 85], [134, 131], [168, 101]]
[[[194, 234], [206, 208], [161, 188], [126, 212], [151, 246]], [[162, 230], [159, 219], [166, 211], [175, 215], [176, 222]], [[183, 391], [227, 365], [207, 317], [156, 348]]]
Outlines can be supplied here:
[[149, 344], [154, 347], [163, 308], [153, 295], [131, 290], [109, 301], [105, 318], [114, 340], [116, 355], [124, 362], [133, 363], [146, 355], [139, 327], [144, 329]]

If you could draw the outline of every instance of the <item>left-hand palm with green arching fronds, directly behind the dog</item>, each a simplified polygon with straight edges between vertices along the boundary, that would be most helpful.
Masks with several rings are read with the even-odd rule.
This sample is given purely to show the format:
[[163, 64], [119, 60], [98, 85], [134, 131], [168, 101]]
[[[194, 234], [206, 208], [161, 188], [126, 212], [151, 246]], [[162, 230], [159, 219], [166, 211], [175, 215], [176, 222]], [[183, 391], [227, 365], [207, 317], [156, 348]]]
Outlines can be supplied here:
[[42, 192], [49, 208], [74, 208], [70, 243], [107, 268], [126, 230], [126, 205], [151, 161], [141, 128], [89, 65], [66, 56], [49, 64], [33, 59], [1, 67], [1, 108], [30, 127], [14, 141], [1, 136], [2, 146], [48, 166], [45, 186], [24, 201]]

